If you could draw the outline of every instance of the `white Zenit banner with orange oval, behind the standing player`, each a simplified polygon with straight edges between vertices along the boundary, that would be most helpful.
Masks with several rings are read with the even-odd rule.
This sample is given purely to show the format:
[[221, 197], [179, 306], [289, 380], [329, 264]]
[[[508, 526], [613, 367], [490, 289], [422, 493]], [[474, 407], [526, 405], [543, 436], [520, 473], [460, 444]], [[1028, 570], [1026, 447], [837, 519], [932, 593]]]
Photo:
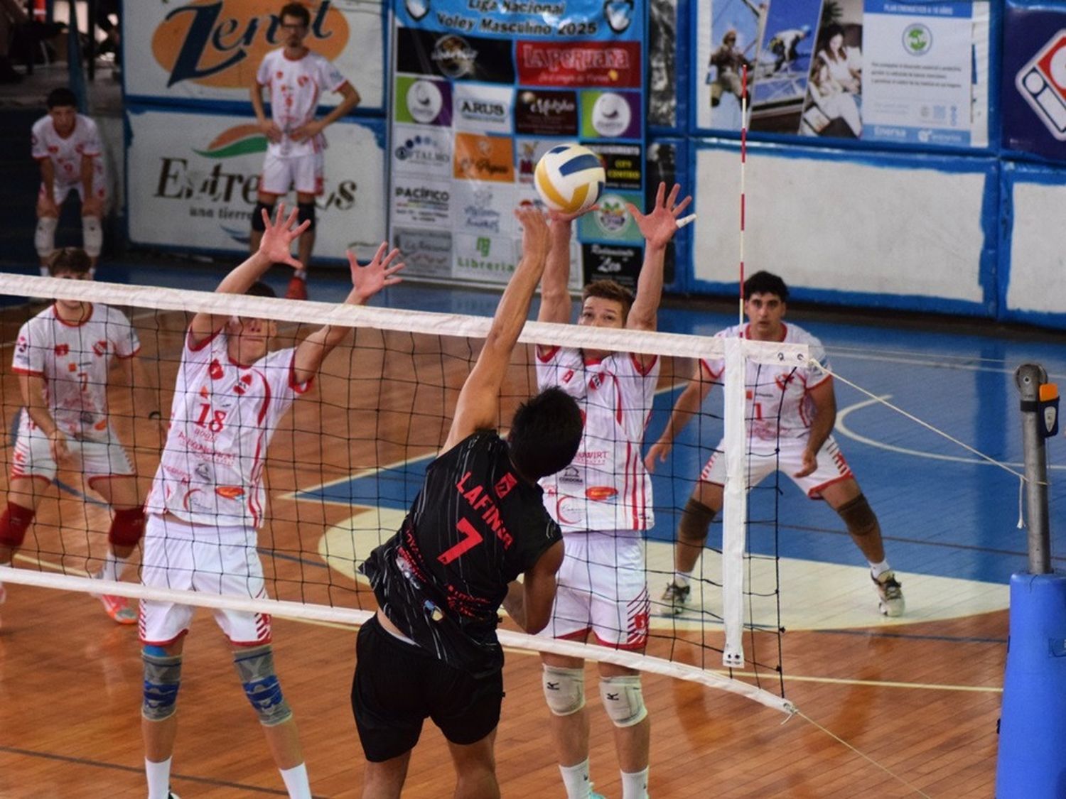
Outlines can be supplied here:
[[[140, 100], [248, 102], [259, 64], [282, 47], [284, 0], [139, 0], [124, 6], [126, 96]], [[384, 6], [381, 0], [304, 3], [304, 40], [355, 86], [361, 109], [384, 109]], [[141, 44], [143, 43], [143, 44]], [[325, 94], [323, 105], [340, 95]]]

